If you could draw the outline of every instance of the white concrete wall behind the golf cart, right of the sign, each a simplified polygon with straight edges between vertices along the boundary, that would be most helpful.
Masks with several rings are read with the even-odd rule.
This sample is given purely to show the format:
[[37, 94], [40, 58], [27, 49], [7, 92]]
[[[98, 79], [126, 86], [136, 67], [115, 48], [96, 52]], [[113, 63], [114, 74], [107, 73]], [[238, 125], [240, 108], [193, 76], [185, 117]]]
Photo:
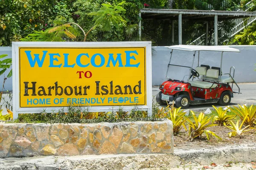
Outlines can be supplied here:
[[[240, 53], [224, 52], [222, 62], [222, 72], [229, 73], [230, 67], [234, 66], [236, 82], [256, 82], [256, 45], [233, 45], [230, 46], [239, 49]], [[152, 85], [160, 85], [166, 80], [166, 69], [170, 59], [171, 50], [168, 47], [153, 47], [155, 50], [152, 57]], [[196, 54], [194, 66], [198, 65], [198, 54]], [[173, 51], [173, 64], [191, 66], [193, 52]], [[171, 63], [172, 63], [171, 61]], [[220, 67], [221, 52], [200, 51], [199, 65], [205, 64], [210, 67]], [[169, 72], [169, 78], [172, 71]], [[184, 71], [175, 71], [175, 77], [183, 77]]]

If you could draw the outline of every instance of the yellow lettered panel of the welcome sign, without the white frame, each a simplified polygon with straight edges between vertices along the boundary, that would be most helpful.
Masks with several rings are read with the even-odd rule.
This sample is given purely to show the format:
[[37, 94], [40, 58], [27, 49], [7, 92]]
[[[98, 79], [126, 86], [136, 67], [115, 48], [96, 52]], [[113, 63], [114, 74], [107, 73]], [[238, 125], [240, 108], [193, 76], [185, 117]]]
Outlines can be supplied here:
[[146, 105], [145, 55], [145, 47], [20, 47], [20, 107]]

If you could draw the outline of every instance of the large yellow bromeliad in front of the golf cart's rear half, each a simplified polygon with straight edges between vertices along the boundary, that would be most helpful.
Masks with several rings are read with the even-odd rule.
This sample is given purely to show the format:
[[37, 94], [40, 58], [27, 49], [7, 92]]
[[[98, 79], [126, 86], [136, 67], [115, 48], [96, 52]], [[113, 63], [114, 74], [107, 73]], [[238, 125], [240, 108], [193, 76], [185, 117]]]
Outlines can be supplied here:
[[191, 140], [191, 142], [196, 137], [199, 137], [201, 139], [203, 133], [206, 134], [207, 140], [209, 140], [209, 134], [221, 140], [221, 138], [218, 135], [216, 135], [214, 132], [210, 130], [206, 130], [207, 127], [217, 126], [217, 124], [208, 124], [212, 119], [212, 117], [208, 118], [207, 116], [204, 116], [204, 113], [200, 113], [197, 118], [193, 111], [191, 111], [191, 113], [195, 121], [195, 122], [192, 122], [190, 119], [187, 119], [187, 122], [189, 125], [189, 139]]

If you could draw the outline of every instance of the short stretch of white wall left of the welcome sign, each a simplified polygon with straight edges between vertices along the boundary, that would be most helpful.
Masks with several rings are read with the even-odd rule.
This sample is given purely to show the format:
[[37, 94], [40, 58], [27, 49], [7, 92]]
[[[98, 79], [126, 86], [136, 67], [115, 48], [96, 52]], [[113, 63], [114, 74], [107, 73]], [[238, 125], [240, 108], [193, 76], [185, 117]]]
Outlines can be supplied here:
[[[12, 58], [12, 47], [0, 47], [0, 55], [2, 54], [8, 54], [7, 57], [2, 58], [0, 60], [3, 59], [7, 59], [7, 58]], [[12, 68], [9, 68], [6, 70], [6, 72], [0, 76], [0, 91], [2, 91], [2, 86], [3, 86], [3, 79], [4, 79], [4, 75], [5, 77], [7, 77], [8, 73], [10, 72]], [[4, 84], [4, 88], [3, 91], [12, 91], [12, 77], [11, 78], [7, 78], [5, 84]]]

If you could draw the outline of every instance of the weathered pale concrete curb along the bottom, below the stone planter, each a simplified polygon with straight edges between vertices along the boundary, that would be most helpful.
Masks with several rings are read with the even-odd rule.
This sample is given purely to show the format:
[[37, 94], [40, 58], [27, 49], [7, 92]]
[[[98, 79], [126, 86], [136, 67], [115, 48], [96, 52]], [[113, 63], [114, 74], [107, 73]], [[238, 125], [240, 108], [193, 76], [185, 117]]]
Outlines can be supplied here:
[[84, 156], [35, 156], [0, 159], [0, 170], [139, 170], [177, 168], [181, 164], [224, 164], [255, 161], [256, 145], [210, 149], [175, 149], [175, 154], [119, 154]]

